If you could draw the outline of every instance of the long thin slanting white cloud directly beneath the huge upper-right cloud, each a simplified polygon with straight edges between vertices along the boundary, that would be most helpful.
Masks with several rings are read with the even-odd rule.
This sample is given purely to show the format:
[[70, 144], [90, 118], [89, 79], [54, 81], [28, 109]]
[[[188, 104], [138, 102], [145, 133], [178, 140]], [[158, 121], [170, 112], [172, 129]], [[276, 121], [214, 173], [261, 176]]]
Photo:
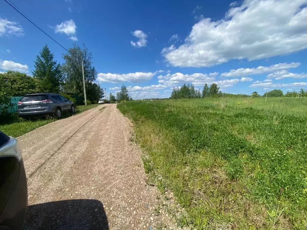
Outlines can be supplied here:
[[239, 76], [248, 76], [248, 75], [259, 75], [264, 73], [270, 73], [278, 70], [297, 68], [301, 65], [299, 62], [292, 63], [279, 63], [270, 66], [258, 66], [257, 68], [240, 68], [236, 70], [231, 70], [227, 73], [222, 73], [221, 77], [239, 77]]

